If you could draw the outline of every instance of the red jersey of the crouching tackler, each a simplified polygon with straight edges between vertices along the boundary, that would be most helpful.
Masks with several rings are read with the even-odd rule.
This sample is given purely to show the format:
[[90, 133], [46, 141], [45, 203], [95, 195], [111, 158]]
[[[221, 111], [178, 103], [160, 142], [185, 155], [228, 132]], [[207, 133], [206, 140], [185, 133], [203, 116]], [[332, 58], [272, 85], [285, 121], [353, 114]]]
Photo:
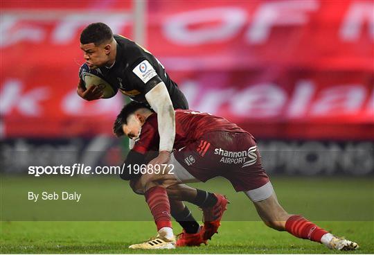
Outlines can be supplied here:
[[[189, 143], [197, 141], [203, 134], [215, 131], [246, 132], [219, 116], [185, 109], [175, 111], [175, 141], [174, 149], [180, 149]], [[159, 150], [159, 131], [157, 114], [150, 115], [141, 128], [139, 140], [132, 150], [145, 154], [150, 150]]]

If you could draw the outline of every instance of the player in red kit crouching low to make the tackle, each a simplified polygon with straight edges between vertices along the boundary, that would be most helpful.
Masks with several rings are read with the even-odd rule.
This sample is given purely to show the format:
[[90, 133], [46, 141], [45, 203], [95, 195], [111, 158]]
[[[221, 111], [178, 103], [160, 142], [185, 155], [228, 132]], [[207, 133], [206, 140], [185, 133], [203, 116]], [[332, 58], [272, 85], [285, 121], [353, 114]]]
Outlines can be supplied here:
[[[174, 152], [171, 155], [174, 174], [146, 173], [139, 177], [134, 172], [128, 179], [138, 178], [136, 189], [145, 194], [145, 200], [156, 222], [158, 236], [145, 243], [131, 245], [132, 249], [172, 249], [175, 248], [175, 237], [170, 221], [170, 205], [167, 188], [188, 182], [206, 182], [216, 176], [229, 179], [235, 191], [244, 192], [256, 206], [260, 218], [265, 224], [278, 231], [314, 242], [323, 243], [330, 249], [353, 250], [357, 243], [344, 238], [337, 238], [321, 229], [303, 216], [291, 215], [278, 203], [269, 177], [262, 168], [256, 140], [251, 134], [226, 121], [225, 118], [211, 114], [177, 109], [176, 136]], [[145, 152], [157, 150], [159, 135], [157, 134], [157, 114], [141, 103], [132, 102], [123, 107], [114, 123], [117, 137], [125, 134], [137, 136], [130, 152], [138, 155], [137, 164], [142, 164]], [[134, 164], [134, 161], [131, 162]], [[176, 195], [176, 194], [175, 194]], [[187, 193], [179, 193], [179, 200], [195, 202], [199, 192], [189, 188]], [[178, 196], [178, 195], [176, 195]], [[226, 209], [227, 200], [222, 195], [219, 202], [204, 211], [204, 217], [219, 224]], [[211, 220], [210, 219], [210, 220]], [[206, 229], [201, 232], [204, 238]]]

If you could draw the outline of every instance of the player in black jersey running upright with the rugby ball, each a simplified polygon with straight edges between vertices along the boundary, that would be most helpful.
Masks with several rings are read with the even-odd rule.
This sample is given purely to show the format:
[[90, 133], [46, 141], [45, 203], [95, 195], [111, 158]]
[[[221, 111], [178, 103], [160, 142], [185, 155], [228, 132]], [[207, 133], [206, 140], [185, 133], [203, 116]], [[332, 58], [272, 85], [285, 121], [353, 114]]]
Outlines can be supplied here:
[[[164, 164], [170, 159], [175, 139], [174, 109], [188, 109], [184, 94], [173, 82], [163, 65], [154, 56], [130, 39], [113, 35], [103, 23], [90, 24], [80, 35], [80, 49], [84, 51], [85, 63], [79, 70], [77, 93], [85, 100], [96, 100], [103, 91], [91, 86], [86, 89], [82, 74], [93, 73], [118, 88], [132, 100], [148, 103], [157, 112], [159, 125], [159, 156], [149, 164]], [[138, 137], [136, 134], [134, 139]], [[184, 188], [183, 186], [181, 188]], [[170, 200], [172, 216], [184, 231], [199, 231], [199, 224], [181, 201]]]

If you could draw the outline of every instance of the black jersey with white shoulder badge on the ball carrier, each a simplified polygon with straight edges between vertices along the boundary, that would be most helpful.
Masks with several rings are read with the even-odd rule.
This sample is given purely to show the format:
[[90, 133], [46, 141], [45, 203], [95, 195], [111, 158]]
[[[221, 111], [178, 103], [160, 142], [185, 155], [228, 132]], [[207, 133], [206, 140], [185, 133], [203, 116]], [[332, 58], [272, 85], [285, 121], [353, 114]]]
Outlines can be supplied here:
[[121, 35], [114, 35], [117, 42], [116, 62], [110, 69], [100, 67], [90, 70], [87, 64], [82, 64], [79, 76], [83, 72], [93, 73], [106, 80], [113, 87], [117, 87], [132, 100], [147, 102], [145, 94], [159, 82], [164, 82], [172, 105], [175, 109], [188, 109], [184, 94], [173, 82], [163, 65], [154, 56], [130, 39]]

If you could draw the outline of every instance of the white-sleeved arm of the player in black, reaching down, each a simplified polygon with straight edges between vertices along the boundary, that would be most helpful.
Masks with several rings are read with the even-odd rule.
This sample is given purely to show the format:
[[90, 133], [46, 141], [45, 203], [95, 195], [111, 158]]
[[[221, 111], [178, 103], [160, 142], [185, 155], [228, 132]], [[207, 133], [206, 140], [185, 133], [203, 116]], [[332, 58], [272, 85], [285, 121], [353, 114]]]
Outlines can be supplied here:
[[145, 94], [145, 98], [152, 109], [157, 112], [160, 135], [159, 156], [152, 159], [150, 164], [167, 164], [175, 139], [175, 111], [165, 83], [159, 82]]

